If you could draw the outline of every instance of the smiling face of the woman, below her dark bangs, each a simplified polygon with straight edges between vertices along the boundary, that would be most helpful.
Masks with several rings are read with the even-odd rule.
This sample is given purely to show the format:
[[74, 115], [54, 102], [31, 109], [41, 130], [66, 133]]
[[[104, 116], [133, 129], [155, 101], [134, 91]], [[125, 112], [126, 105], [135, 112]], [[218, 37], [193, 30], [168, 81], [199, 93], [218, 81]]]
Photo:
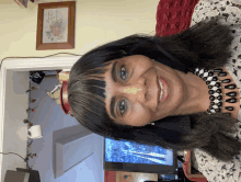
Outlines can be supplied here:
[[130, 126], [175, 115], [185, 91], [180, 73], [141, 55], [112, 60], [104, 73], [107, 114]]

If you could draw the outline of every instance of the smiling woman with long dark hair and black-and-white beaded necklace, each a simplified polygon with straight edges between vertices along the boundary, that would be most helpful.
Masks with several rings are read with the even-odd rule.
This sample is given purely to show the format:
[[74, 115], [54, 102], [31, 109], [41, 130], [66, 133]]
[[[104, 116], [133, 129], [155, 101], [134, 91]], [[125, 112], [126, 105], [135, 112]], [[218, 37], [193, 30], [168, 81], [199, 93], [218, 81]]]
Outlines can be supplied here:
[[[216, 15], [225, 3], [214, 3]], [[195, 9], [192, 24], [198, 12], [202, 8]], [[209, 166], [216, 160], [229, 168], [211, 173], [202, 163], [198, 169], [208, 181], [226, 181], [223, 175], [238, 181], [241, 144], [233, 136], [241, 125], [240, 82], [239, 66], [231, 64], [238, 64], [241, 34], [238, 18], [216, 15], [180, 34], [131, 35], [83, 55], [68, 82], [72, 115], [105, 137], [194, 150], [199, 159], [205, 153]]]

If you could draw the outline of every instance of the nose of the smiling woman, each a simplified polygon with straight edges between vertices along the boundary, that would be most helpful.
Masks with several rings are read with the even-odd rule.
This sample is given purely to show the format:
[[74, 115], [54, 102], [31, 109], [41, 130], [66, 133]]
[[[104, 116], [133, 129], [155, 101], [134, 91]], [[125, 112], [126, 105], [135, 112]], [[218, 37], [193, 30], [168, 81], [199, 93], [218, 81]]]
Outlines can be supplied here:
[[147, 94], [146, 79], [140, 78], [136, 82], [123, 87], [123, 92], [129, 94], [131, 99], [145, 102]]

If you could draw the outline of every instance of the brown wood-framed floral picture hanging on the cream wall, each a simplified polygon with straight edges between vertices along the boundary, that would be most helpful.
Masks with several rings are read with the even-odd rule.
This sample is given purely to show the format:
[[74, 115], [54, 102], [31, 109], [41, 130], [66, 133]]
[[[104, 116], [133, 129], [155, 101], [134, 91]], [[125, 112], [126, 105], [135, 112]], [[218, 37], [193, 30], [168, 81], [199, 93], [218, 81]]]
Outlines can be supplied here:
[[39, 3], [36, 49], [74, 48], [76, 1]]

